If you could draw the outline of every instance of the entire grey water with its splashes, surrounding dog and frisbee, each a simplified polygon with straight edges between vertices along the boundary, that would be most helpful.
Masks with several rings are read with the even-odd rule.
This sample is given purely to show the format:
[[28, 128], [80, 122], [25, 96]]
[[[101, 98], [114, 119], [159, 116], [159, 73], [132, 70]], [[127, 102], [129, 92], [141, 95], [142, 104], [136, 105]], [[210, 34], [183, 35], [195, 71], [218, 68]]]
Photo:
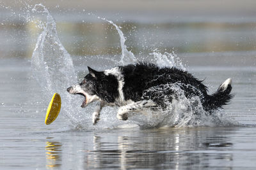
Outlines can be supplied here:
[[[206, 78], [210, 93], [230, 77], [236, 97], [216, 117], [202, 113], [199, 123], [186, 124], [188, 119], [184, 118], [179, 120], [179, 127], [173, 127], [172, 117], [162, 113], [159, 117], [134, 116], [124, 122], [116, 120], [116, 108], [104, 108], [99, 123], [93, 126], [93, 105], [80, 108], [83, 99], [70, 96], [65, 89], [83, 78], [86, 66], [102, 70], [135, 60], [125, 46], [129, 41], [122, 34], [125, 28], [106, 20], [114, 25], [110, 29], [119, 38], [121, 49], [117, 54], [70, 55], [49, 11], [42, 5], [33, 8], [44, 20], [37, 25], [40, 33], [34, 40], [32, 59], [0, 62], [1, 169], [255, 169], [253, 50], [175, 54], [155, 47], [147, 55], [140, 54], [140, 60], [177, 66]], [[54, 123], [44, 125], [53, 92], [61, 94], [63, 107]], [[177, 103], [173, 113], [190, 113], [184, 111], [189, 104], [186, 99]], [[171, 121], [156, 128], [161, 118]]]

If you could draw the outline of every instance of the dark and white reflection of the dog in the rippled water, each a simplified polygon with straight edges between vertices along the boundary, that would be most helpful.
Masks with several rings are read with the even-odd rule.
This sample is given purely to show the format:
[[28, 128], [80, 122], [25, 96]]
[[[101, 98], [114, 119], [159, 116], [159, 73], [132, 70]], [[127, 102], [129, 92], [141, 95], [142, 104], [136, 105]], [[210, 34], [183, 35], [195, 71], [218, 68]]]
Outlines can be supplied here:
[[[225, 134], [211, 129], [156, 129], [125, 132], [115, 139], [93, 136], [93, 150], [87, 151], [86, 169], [184, 169], [232, 167], [232, 147]], [[225, 148], [225, 152], [223, 152]], [[219, 163], [217, 163], [219, 164]]]

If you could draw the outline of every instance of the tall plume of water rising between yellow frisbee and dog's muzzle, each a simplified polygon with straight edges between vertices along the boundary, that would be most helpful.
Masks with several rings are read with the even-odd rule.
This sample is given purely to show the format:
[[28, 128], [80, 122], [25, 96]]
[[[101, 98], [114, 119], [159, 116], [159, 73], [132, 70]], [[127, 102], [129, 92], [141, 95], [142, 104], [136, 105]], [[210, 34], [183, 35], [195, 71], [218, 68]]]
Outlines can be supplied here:
[[77, 81], [72, 59], [63, 47], [56, 31], [56, 22], [42, 4], [36, 4], [34, 13], [46, 15], [46, 22], [38, 22], [42, 33], [38, 36], [31, 59], [31, 71], [42, 88], [43, 97], [49, 101], [54, 92], [62, 98], [61, 113], [64, 113], [72, 124], [79, 120], [72, 114], [79, 109], [72, 106], [74, 97], [67, 95], [67, 87]]

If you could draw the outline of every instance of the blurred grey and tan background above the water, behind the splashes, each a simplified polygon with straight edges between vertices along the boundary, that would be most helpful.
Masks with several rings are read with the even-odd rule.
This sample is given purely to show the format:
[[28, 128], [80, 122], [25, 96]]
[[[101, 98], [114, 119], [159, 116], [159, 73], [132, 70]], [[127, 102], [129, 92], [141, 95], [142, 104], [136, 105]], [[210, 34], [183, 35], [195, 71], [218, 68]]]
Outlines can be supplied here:
[[158, 49], [176, 53], [188, 65], [255, 66], [253, 0], [2, 0], [0, 58], [31, 57], [42, 31], [36, 21], [45, 19], [31, 11], [38, 3], [55, 18], [61, 43], [73, 57], [120, 55], [118, 33], [101, 17], [122, 27], [127, 48], [137, 57]]

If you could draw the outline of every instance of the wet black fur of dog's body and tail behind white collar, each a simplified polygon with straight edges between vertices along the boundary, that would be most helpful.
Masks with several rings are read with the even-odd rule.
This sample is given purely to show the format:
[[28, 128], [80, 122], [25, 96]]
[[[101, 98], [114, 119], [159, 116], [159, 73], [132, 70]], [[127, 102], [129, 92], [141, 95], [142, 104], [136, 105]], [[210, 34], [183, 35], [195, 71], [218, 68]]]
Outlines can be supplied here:
[[[175, 92], [172, 89], [162, 89], [161, 86], [177, 83], [180, 89], [184, 90], [186, 97], [199, 96], [205, 111], [211, 111], [221, 108], [230, 101], [232, 95], [230, 90], [225, 93], [216, 92], [209, 96], [207, 87], [202, 81], [196, 79], [192, 74], [176, 67], [158, 67], [155, 64], [146, 62], [138, 62], [127, 66], [120, 66], [122, 74], [124, 74], [124, 97], [125, 100], [140, 101], [141, 99], [152, 99], [159, 106], [165, 107], [166, 96], [168, 101], [172, 102]], [[156, 91], [147, 91], [152, 87], [160, 88]], [[227, 93], [227, 94], [226, 94]], [[165, 98], [163, 99], [163, 96]], [[221, 98], [222, 97], [222, 98]]]

